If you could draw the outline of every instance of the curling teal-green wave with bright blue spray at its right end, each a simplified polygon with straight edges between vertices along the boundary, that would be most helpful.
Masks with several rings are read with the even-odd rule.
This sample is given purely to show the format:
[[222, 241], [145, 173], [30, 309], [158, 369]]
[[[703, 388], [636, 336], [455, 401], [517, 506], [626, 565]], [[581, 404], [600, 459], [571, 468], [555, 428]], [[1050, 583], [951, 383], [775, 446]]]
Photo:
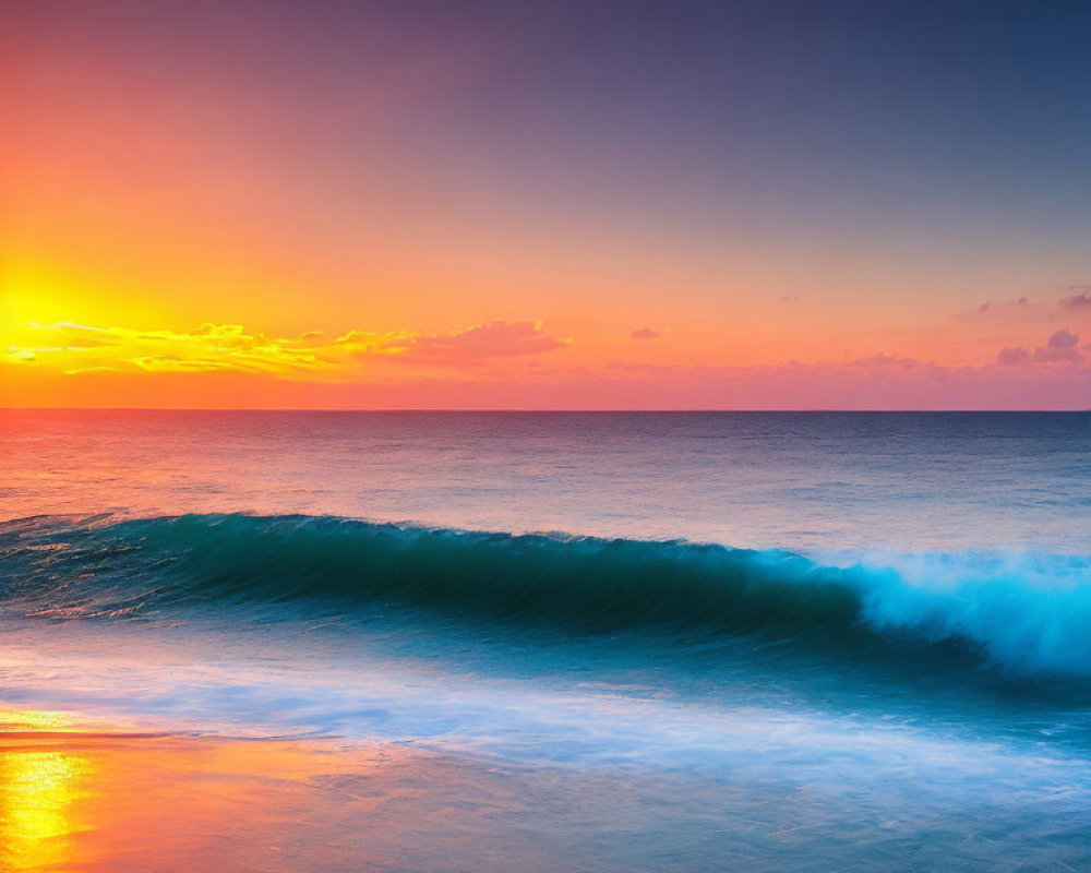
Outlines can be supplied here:
[[0, 524], [0, 603], [134, 618], [235, 603], [301, 615], [416, 610], [672, 645], [760, 636], [940, 653], [1011, 675], [1091, 677], [1091, 561], [973, 554], [824, 565], [682, 541], [487, 534], [329, 516]]

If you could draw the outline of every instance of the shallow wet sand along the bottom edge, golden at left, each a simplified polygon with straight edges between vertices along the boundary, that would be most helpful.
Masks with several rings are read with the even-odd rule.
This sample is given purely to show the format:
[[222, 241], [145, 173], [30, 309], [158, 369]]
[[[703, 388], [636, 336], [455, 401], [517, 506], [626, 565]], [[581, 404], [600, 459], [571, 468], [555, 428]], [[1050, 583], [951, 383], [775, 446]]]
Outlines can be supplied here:
[[[0, 711], [5, 873], [1071, 870], [1091, 856], [1023, 811], [882, 816], [822, 785], [515, 767], [400, 743], [143, 733]], [[1083, 808], [1074, 798], [1075, 825]], [[1041, 812], [1041, 814], [1038, 814]], [[1078, 830], [1072, 832], [1078, 834]], [[1026, 840], [1024, 840], [1026, 841]]]

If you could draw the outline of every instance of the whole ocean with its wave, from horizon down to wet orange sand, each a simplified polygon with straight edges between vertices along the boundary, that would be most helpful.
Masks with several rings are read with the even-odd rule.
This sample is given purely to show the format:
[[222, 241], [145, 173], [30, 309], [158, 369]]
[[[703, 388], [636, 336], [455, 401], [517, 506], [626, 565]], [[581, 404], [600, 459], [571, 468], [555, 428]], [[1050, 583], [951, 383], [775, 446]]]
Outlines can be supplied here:
[[624, 778], [571, 870], [1091, 869], [1091, 414], [2, 410], [0, 519], [7, 703]]

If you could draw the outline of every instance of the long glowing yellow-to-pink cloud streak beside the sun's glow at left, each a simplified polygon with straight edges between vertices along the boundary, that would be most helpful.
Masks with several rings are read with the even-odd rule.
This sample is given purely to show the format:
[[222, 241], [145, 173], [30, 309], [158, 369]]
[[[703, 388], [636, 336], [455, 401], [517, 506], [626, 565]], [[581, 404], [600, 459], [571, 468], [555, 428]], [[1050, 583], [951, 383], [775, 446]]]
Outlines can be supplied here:
[[278, 379], [339, 380], [361, 362], [406, 360], [432, 367], [487, 358], [536, 355], [564, 340], [531, 322], [494, 321], [436, 336], [394, 331], [349, 331], [326, 338], [319, 331], [275, 337], [241, 324], [202, 324], [184, 333], [95, 327], [58, 322], [29, 325], [29, 343], [9, 346], [2, 359], [68, 374], [240, 372]]

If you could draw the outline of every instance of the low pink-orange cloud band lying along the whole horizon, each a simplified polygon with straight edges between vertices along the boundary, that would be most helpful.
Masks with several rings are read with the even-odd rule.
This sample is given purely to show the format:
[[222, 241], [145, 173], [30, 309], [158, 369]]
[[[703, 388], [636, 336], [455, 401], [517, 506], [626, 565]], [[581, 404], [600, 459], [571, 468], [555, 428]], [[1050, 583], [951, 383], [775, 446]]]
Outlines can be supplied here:
[[[1048, 346], [1046, 346], [1048, 348]], [[276, 381], [253, 373], [43, 373], [36, 397], [88, 405], [171, 406], [179, 396], [227, 407], [461, 409], [1087, 409], [1091, 367], [946, 367], [876, 355], [841, 363], [767, 367], [541, 367], [495, 379], [468, 369], [415, 379]], [[2, 382], [2, 368], [0, 368]], [[109, 388], [109, 392], [106, 390]], [[185, 392], [188, 391], [188, 394]]]

